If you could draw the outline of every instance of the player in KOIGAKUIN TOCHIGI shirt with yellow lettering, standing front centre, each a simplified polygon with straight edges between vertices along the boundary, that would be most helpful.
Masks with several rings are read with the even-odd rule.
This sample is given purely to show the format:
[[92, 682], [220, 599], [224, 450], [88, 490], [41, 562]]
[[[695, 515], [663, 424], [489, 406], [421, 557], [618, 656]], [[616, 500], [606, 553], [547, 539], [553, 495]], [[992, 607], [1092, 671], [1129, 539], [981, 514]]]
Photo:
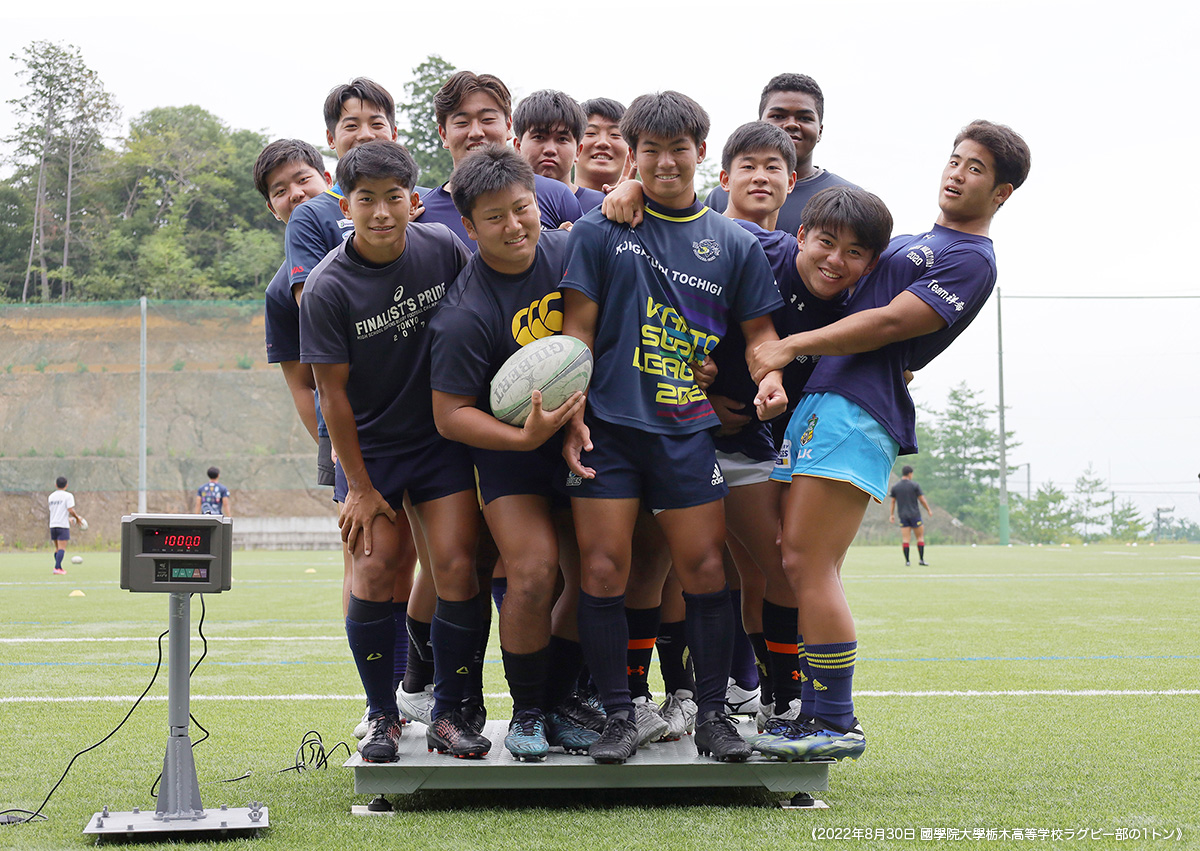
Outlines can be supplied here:
[[[590, 751], [599, 762], [637, 750], [624, 591], [643, 501], [656, 511], [685, 592], [696, 747], [718, 760], [749, 755], [722, 712], [733, 635], [721, 561], [726, 487], [707, 432], [716, 416], [692, 366], [730, 320], [752, 343], [774, 340], [769, 313], [780, 300], [757, 242], [696, 200], [708, 126], [703, 108], [679, 92], [634, 101], [620, 130], [644, 181], [646, 222], [635, 232], [589, 212], [571, 232], [562, 284], [563, 330], [595, 356], [587, 418], [576, 415], [564, 437], [564, 492], [582, 559], [580, 636], [608, 714]], [[779, 380], [776, 373], [760, 384], [764, 418], [786, 401]]]

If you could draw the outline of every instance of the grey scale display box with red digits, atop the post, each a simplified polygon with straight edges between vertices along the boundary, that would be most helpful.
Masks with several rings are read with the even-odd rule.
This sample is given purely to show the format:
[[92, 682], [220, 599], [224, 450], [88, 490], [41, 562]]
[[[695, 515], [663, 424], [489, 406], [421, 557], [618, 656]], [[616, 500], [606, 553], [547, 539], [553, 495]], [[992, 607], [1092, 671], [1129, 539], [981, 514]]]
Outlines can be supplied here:
[[121, 588], [142, 593], [229, 591], [233, 521], [203, 514], [121, 517]]

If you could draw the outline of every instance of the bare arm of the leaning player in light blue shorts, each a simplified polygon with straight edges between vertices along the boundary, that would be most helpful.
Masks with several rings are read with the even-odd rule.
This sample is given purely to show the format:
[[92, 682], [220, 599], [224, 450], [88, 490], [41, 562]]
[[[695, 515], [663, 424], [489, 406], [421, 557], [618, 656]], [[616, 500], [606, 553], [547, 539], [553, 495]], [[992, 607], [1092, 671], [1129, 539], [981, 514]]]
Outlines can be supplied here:
[[[937, 311], [905, 290], [886, 307], [851, 313], [824, 328], [800, 331], [778, 342], [764, 342], [748, 353], [755, 380], [779, 370], [802, 354], [858, 354], [888, 343], [912, 340], [946, 328]], [[749, 337], [748, 337], [749, 340]]]

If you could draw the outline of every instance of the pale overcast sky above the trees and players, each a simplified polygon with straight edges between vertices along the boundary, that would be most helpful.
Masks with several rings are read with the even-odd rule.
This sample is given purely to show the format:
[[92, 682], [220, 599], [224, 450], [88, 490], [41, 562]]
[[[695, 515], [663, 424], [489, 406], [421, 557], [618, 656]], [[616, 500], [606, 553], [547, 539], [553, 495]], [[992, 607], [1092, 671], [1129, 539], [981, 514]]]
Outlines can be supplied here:
[[[808, 73], [826, 95], [815, 163], [880, 194], [896, 233], [936, 217], [959, 127], [1008, 124], [1033, 151], [1028, 182], [991, 230], [1007, 427], [1021, 443], [1009, 461], [1031, 466], [1034, 489], [1064, 490], [1092, 463], [1146, 515], [1174, 505], [1200, 520], [1200, 283], [1190, 263], [1200, 13], [1190, 4], [272, 4], [287, 17], [226, 0], [187, 14], [121, 0], [60, 1], [43, 17], [7, 6], [0, 100], [19, 94], [8, 55], [47, 38], [83, 50], [125, 121], [197, 103], [233, 127], [314, 144], [324, 144], [320, 104], [334, 84], [364, 74], [400, 98], [430, 53], [498, 74], [516, 98], [556, 88], [628, 103], [678, 89], [712, 114], [714, 156], [757, 118], [767, 79]], [[0, 136], [11, 128], [5, 104]], [[1033, 295], [1075, 298], [1018, 298]], [[1078, 298], [1096, 295], [1126, 298]], [[959, 382], [997, 403], [995, 296], [912, 395], [940, 408]], [[913, 466], [919, 480], [919, 456]], [[1024, 492], [1025, 477], [1009, 487]]]

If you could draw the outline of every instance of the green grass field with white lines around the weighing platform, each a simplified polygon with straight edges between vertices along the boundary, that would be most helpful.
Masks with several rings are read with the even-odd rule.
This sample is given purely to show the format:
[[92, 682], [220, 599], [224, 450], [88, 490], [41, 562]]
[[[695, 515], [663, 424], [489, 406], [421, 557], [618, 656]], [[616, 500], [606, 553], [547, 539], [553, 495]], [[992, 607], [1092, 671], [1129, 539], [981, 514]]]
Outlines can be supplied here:
[[[196, 749], [200, 792], [209, 808], [266, 802], [269, 831], [221, 844], [264, 851], [1200, 847], [1200, 546], [928, 556], [929, 568], [905, 568], [898, 546], [846, 559], [869, 747], [830, 771], [829, 810], [778, 810], [780, 796], [738, 790], [421, 792], [383, 819], [349, 815], [367, 797], [353, 793], [344, 751], [326, 771], [278, 773], [308, 730], [326, 748], [353, 743], [361, 701], [337, 616], [340, 555], [238, 552], [233, 591], [205, 598], [209, 657], [192, 679], [192, 713], [211, 732]], [[167, 598], [121, 591], [115, 553], [84, 558], [54, 576], [46, 551], [0, 555], [0, 809], [36, 809], [154, 671]], [[509, 712], [498, 659], [493, 637], [493, 718]], [[164, 669], [125, 727], [76, 761], [48, 821], [0, 827], [0, 847], [79, 847], [102, 805], [152, 809], [166, 694]], [[500, 743], [488, 759], [508, 759]]]

